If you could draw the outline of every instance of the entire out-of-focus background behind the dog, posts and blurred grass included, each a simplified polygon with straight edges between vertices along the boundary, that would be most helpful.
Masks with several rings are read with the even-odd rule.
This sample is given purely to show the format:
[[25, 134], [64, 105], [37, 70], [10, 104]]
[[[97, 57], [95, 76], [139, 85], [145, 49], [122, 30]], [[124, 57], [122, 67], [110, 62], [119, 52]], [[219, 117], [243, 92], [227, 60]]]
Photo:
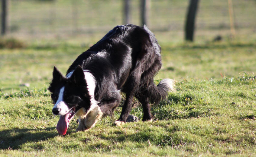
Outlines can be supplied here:
[[121, 24], [146, 24], [162, 47], [155, 80], [255, 76], [256, 0], [1, 0], [0, 95], [47, 88], [53, 66]]

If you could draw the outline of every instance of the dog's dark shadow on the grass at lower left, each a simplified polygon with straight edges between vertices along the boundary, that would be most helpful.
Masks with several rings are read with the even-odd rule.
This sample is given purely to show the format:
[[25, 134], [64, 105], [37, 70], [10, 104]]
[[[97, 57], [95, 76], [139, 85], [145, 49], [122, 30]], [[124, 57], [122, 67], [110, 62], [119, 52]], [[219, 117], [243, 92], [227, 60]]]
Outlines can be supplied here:
[[44, 129], [7, 129], [0, 132], [0, 149], [20, 149], [28, 142], [36, 143], [58, 136], [55, 127]]

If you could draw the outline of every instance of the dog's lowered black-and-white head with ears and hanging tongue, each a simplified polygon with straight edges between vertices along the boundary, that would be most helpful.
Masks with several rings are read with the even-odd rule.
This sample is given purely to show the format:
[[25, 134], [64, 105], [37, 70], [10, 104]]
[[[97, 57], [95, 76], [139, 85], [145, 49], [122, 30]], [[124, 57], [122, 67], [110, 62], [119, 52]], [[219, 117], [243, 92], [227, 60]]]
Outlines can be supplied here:
[[88, 91], [84, 71], [78, 66], [73, 73], [64, 77], [56, 67], [53, 68], [53, 79], [48, 88], [54, 106], [52, 112], [59, 115], [57, 130], [65, 135], [68, 124], [80, 109], [89, 110], [91, 96]]

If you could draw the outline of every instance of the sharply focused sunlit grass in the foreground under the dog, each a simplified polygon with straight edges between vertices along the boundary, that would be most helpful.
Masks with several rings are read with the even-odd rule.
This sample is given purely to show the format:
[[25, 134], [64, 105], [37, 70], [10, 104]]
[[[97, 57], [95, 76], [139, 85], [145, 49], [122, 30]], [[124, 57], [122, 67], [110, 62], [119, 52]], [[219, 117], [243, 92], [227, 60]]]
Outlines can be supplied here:
[[[153, 122], [114, 127], [113, 117], [77, 132], [72, 121], [66, 136], [55, 126], [49, 92], [21, 90], [1, 96], [2, 153], [47, 155], [250, 155], [255, 153], [256, 89], [253, 76], [213, 80], [183, 80], [178, 91], [160, 105], [152, 105]], [[29, 94], [26, 94], [29, 93]], [[135, 105], [137, 106], [137, 105]], [[132, 109], [142, 117], [142, 108]]]

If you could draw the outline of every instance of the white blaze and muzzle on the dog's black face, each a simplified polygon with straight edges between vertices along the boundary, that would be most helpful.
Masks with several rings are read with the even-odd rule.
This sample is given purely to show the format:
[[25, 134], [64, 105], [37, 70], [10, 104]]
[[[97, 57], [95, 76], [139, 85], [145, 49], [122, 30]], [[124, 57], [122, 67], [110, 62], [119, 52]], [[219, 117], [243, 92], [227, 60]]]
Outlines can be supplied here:
[[64, 88], [62, 87], [60, 89], [60, 93], [59, 93], [59, 97], [57, 102], [55, 103], [55, 105], [53, 106], [53, 108], [57, 108], [57, 110], [59, 111], [58, 115], [65, 115], [68, 111], [69, 108], [68, 106], [65, 104], [65, 102], [63, 101], [63, 93], [64, 93]]

